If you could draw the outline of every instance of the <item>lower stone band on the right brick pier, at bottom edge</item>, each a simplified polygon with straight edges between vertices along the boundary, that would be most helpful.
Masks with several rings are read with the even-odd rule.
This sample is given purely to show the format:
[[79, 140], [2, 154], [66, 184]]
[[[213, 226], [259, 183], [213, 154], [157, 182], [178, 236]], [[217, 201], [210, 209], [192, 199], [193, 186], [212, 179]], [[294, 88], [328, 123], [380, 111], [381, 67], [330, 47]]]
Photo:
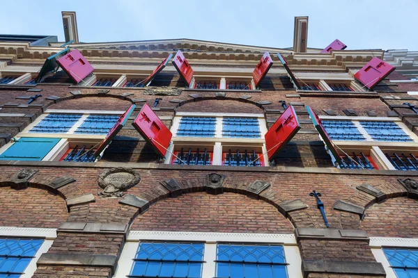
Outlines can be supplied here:
[[311, 273], [329, 273], [341, 275], [371, 275], [386, 276], [382, 263], [368, 261], [302, 261], [303, 277]]

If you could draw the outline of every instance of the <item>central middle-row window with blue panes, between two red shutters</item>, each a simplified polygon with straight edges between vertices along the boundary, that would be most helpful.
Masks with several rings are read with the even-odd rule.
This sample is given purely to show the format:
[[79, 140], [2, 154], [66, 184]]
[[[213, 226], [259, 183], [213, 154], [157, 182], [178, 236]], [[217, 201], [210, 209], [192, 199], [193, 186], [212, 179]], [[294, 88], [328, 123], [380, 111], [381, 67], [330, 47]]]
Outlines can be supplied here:
[[178, 113], [166, 163], [264, 166], [266, 131], [262, 114]]

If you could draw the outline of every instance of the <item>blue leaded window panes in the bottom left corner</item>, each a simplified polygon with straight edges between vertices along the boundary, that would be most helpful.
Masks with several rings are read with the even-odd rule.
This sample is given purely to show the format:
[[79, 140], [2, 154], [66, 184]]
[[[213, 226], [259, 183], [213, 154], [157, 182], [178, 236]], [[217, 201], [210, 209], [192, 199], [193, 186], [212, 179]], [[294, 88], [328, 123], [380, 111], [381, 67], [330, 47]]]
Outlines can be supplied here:
[[18, 278], [35, 257], [43, 239], [0, 238], [0, 277]]

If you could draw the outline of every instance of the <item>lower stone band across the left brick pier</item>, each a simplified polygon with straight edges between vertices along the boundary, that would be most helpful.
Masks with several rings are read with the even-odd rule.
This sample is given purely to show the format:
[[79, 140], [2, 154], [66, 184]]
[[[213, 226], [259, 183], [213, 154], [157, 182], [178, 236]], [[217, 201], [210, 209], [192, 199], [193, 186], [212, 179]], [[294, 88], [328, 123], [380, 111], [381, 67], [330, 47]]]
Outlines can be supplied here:
[[117, 257], [114, 255], [44, 253], [36, 265], [68, 265], [91, 268], [111, 268], [114, 274]]

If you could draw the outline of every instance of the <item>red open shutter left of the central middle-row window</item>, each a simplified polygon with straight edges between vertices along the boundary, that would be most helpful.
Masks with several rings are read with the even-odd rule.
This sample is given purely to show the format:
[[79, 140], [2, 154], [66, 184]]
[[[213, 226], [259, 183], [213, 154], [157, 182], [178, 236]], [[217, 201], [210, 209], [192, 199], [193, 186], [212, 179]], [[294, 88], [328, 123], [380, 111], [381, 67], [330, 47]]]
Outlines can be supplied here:
[[132, 125], [153, 146], [157, 154], [165, 156], [173, 134], [148, 104], [144, 104]]

